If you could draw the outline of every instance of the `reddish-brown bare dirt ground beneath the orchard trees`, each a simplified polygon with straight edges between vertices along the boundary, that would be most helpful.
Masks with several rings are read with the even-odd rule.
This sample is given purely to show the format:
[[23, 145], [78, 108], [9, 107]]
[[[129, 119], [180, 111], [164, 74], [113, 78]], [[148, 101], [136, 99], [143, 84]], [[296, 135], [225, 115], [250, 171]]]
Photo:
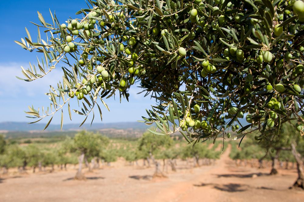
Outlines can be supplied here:
[[[76, 168], [53, 173], [2, 176], [0, 202], [271, 202], [304, 201], [304, 191], [289, 190], [296, 180], [295, 169], [279, 169], [269, 176], [270, 168], [236, 166], [228, 157], [229, 149], [211, 166], [189, 168], [177, 162], [177, 172], [167, 178], [152, 179], [154, 168], [127, 166], [118, 161], [110, 167], [85, 170], [86, 181], [73, 180]], [[165, 169], [166, 170], [166, 169]]]

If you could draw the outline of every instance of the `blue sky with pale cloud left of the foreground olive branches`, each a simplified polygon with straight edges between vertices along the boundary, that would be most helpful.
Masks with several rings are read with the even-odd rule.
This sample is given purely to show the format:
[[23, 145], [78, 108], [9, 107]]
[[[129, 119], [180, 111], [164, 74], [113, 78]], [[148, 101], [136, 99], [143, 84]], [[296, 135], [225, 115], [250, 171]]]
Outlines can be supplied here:
[[[20, 38], [26, 36], [25, 27], [31, 33], [33, 39], [37, 37], [37, 27], [30, 23], [38, 20], [37, 11], [42, 13], [47, 22], [50, 21], [49, 8], [52, 12], [56, 11], [57, 18], [64, 22], [74, 15], [81, 8], [87, 8], [84, 0], [53, 0], [47, 1], [2, 1], [0, 8], [0, 17], [2, 19], [0, 40], [2, 48], [0, 49], [0, 122], [16, 121], [31, 122], [33, 119], [26, 118], [24, 111], [27, 111], [28, 105], [33, 104], [35, 108], [48, 106], [48, 97], [44, 94], [49, 91], [49, 85], [57, 86], [57, 82], [62, 77], [60, 66], [58, 70], [52, 71], [46, 77], [26, 82], [18, 80], [15, 76], [23, 77], [20, 66], [28, 68], [29, 62], [36, 62], [36, 53], [26, 51], [17, 45], [14, 40], [20, 41]], [[42, 34], [42, 33], [41, 33]], [[42, 35], [43, 36], [43, 35]], [[41, 57], [41, 55], [38, 55]], [[107, 99], [110, 112], [102, 104], [103, 122], [131, 122], [142, 120], [141, 116], [146, 116], [146, 108], [154, 103], [150, 98], [144, 98], [143, 94], [136, 94], [140, 88], [133, 86], [130, 90], [129, 103], [123, 100], [119, 104], [118, 100]], [[71, 104], [71, 108], [78, 108], [76, 103]], [[95, 110], [95, 122], [101, 122], [97, 116], [98, 109]], [[64, 123], [71, 123], [68, 113], [65, 111]], [[73, 123], [81, 123], [85, 117], [73, 114]], [[47, 122], [48, 119], [40, 122]], [[88, 119], [87, 122], [91, 120]], [[54, 116], [52, 123], [60, 123], [60, 113]]]

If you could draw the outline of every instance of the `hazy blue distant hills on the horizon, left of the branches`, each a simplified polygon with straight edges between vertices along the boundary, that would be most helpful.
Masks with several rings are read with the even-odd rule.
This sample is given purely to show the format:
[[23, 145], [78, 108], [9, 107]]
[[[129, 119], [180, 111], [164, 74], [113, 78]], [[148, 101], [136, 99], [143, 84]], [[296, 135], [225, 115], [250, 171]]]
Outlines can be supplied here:
[[[92, 126], [88, 124], [83, 124], [79, 128], [80, 124], [64, 124], [62, 130], [63, 131], [75, 131], [75, 130], [100, 130], [105, 128], [114, 128], [114, 129], [139, 129], [144, 130], [149, 128], [144, 123], [140, 122], [118, 122], [118, 123], [93, 123]], [[12, 131], [20, 131], [20, 132], [28, 132], [28, 131], [42, 131], [45, 127], [45, 124], [35, 123], [35, 124], [27, 124], [26, 122], [1, 122], [0, 123], [0, 132], [12, 132]], [[60, 131], [60, 125], [58, 124], [50, 124], [46, 129], [47, 132], [50, 131]]]

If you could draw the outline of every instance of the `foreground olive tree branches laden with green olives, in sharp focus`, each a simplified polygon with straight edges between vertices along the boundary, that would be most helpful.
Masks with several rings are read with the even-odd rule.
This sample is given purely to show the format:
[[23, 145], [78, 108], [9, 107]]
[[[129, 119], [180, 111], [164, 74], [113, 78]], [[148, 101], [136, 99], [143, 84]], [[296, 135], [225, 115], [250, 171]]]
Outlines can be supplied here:
[[156, 99], [142, 121], [155, 123], [156, 135], [180, 131], [196, 143], [224, 138], [238, 123], [241, 138], [290, 118], [303, 132], [303, 8], [302, 0], [88, 0], [65, 22], [38, 12], [38, 37], [26, 29], [16, 43], [42, 59], [18, 78], [40, 79], [65, 64], [50, 106], [27, 114], [49, 118], [47, 127], [58, 111], [72, 118], [69, 103], [78, 99], [73, 111], [85, 122], [96, 109], [101, 115], [101, 103], [109, 110], [107, 98], [129, 100], [137, 85]]

